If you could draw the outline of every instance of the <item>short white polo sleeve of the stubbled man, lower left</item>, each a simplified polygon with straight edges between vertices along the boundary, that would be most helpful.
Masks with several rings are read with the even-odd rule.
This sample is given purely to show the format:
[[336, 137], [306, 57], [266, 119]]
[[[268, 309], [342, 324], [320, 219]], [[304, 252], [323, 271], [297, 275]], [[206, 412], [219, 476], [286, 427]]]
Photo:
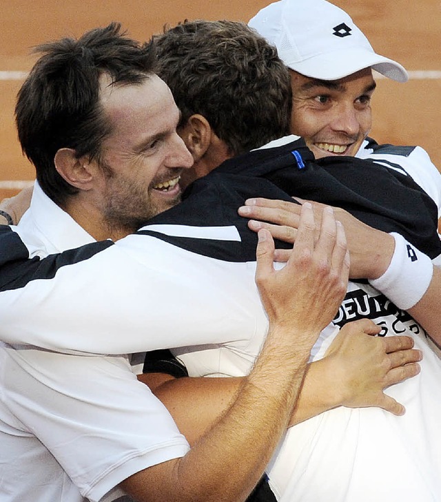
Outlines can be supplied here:
[[[21, 470], [32, 479], [56, 480], [64, 471], [83, 496], [98, 501], [135, 472], [189, 450], [170, 413], [124, 357], [0, 347], [0, 363], [0, 423], [10, 430], [2, 434], [0, 459], [12, 477]], [[50, 459], [47, 452], [58, 464], [37, 461]]]

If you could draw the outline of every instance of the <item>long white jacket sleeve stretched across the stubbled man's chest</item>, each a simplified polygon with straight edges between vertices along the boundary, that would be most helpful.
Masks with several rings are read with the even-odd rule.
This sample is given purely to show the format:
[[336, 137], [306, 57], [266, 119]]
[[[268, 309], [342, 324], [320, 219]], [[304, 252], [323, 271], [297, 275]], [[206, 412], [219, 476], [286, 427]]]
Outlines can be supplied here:
[[20, 287], [3, 288], [3, 342], [121, 354], [232, 340], [247, 344], [256, 331], [261, 337], [267, 330], [254, 266], [246, 263], [134, 234], [58, 266], [54, 262], [53, 277], [25, 283], [23, 272]]

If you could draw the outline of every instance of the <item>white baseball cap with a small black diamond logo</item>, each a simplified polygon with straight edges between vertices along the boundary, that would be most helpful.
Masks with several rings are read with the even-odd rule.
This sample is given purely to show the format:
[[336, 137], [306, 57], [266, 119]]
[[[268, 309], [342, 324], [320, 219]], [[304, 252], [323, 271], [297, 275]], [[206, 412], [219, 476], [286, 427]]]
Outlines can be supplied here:
[[398, 82], [409, 79], [402, 65], [373, 51], [344, 10], [325, 0], [276, 1], [248, 25], [276, 46], [287, 67], [313, 79], [338, 80], [367, 67]]

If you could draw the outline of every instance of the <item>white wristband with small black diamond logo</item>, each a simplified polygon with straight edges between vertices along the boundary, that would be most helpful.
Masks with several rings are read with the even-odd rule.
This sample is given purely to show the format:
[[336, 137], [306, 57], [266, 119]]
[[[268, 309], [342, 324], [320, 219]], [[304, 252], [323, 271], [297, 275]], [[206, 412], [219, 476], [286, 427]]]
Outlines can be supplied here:
[[429, 256], [409, 244], [399, 233], [392, 232], [395, 249], [387, 271], [369, 284], [386, 295], [398, 308], [406, 311], [416, 305], [432, 280], [433, 264]]

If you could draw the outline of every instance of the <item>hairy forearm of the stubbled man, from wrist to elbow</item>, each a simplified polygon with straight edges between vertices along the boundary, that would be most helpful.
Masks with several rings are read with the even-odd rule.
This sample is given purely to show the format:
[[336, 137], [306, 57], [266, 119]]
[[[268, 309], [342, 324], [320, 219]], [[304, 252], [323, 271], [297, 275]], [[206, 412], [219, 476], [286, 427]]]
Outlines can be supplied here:
[[[240, 382], [231, 406], [185, 457], [174, 462], [172, 472], [167, 474], [172, 481], [166, 488], [152, 494], [152, 483], [148, 483], [148, 500], [245, 500], [287, 427], [309, 350], [309, 346], [298, 348], [287, 357], [292, 347], [269, 335], [252, 372]], [[132, 478], [124, 483], [125, 489], [140, 501], [147, 500], [144, 483], [141, 488], [138, 483], [134, 490]]]

